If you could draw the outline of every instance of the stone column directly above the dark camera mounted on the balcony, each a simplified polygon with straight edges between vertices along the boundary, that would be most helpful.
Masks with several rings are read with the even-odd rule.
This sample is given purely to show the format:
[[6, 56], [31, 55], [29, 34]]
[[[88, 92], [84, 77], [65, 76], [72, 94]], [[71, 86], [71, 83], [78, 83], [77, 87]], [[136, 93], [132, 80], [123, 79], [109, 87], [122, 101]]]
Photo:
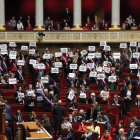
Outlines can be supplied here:
[[43, 0], [35, 0], [35, 29], [45, 30], [44, 28], [44, 14], [43, 14]]

